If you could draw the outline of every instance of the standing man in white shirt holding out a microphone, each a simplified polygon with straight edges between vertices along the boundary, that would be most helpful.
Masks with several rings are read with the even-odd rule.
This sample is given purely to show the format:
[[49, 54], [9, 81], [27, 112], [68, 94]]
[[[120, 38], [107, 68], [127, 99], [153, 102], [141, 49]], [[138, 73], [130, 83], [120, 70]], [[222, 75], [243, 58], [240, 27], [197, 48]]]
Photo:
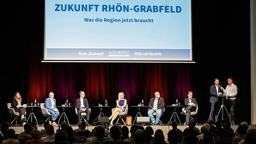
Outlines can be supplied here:
[[[220, 88], [221, 90], [223, 90], [223, 88]], [[237, 86], [233, 83], [233, 78], [229, 77], [228, 78], [228, 85], [226, 87], [226, 96], [227, 100], [231, 100], [232, 101], [232, 105], [230, 107], [230, 120], [231, 120], [231, 125], [235, 125], [235, 104], [236, 104], [236, 95], [237, 95]]]

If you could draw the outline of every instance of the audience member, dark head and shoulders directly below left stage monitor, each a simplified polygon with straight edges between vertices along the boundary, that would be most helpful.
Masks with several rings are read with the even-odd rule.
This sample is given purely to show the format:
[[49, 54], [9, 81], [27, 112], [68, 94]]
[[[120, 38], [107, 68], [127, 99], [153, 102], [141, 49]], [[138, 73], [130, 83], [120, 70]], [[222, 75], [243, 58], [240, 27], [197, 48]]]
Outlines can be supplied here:
[[98, 125], [95, 128], [96, 139], [92, 140], [90, 144], [103, 144], [108, 139], [104, 138], [105, 128], [102, 125]]

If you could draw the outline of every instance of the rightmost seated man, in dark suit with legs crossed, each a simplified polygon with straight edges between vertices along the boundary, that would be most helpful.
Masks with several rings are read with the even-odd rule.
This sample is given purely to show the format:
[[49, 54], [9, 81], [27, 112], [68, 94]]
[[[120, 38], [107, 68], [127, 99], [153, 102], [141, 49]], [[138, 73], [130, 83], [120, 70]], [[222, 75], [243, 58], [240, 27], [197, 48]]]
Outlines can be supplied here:
[[184, 123], [184, 125], [188, 125], [188, 121], [190, 119], [190, 113], [191, 112], [195, 112], [196, 111], [196, 99], [192, 98], [193, 93], [191, 91], [188, 92], [188, 98], [184, 99], [184, 103], [185, 103], [185, 110], [183, 112], [181, 112], [182, 115], [186, 114], [186, 122]]

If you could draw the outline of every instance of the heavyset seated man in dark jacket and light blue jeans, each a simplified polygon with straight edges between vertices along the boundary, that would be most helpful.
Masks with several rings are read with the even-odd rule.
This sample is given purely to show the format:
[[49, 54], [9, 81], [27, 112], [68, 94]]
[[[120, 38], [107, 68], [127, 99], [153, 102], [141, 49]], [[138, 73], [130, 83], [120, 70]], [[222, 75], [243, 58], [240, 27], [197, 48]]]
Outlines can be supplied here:
[[[151, 119], [152, 125], [158, 125], [161, 113], [165, 111], [164, 98], [160, 97], [159, 92], [155, 92], [155, 97], [150, 99], [148, 107], [148, 116]], [[156, 120], [153, 116], [154, 112], [156, 112]]]

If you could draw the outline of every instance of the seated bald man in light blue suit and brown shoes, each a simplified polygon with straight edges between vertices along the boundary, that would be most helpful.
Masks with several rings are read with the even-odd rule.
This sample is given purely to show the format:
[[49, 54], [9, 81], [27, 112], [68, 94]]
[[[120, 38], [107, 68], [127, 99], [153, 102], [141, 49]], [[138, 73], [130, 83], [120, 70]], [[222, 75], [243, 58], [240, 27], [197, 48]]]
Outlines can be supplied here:
[[56, 118], [60, 115], [59, 110], [56, 108], [56, 100], [54, 99], [54, 93], [49, 93], [49, 98], [45, 100], [45, 106], [49, 113], [51, 113], [51, 121], [49, 121], [50, 125], [57, 126], [54, 122]]

